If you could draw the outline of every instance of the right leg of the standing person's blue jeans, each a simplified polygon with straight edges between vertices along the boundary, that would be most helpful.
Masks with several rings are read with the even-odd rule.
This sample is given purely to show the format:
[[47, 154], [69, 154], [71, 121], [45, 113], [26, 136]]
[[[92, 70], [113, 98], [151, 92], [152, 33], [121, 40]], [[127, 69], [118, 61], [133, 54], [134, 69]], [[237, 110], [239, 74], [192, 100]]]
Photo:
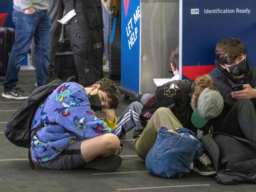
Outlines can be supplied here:
[[47, 84], [49, 80], [49, 53], [50, 53], [50, 17], [47, 10], [38, 13], [40, 22], [34, 35], [35, 39], [35, 66], [37, 86]]

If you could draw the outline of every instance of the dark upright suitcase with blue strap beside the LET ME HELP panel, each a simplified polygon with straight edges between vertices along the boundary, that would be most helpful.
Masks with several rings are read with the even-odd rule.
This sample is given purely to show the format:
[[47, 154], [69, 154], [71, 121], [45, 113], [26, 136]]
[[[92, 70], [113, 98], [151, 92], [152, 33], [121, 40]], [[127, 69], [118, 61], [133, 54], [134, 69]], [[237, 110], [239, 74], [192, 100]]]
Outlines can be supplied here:
[[109, 16], [109, 76], [112, 79], [121, 78], [121, 22], [120, 17]]

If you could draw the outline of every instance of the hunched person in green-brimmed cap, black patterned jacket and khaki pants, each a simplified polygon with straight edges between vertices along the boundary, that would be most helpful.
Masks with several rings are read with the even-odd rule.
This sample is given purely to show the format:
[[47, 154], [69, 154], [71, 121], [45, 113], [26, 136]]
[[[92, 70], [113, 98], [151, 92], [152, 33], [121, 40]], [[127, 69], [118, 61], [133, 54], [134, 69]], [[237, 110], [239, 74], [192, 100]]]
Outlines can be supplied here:
[[[145, 159], [154, 145], [161, 127], [178, 134], [174, 129], [206, 127], [209, 119], [217, 117], [223, 108], [223, 99], [212, 86], [209, 75], [193, 80], [176, 80], [157, 87], [155, 95], [144, 104], [140, 113], [141, 126], [135, 128], [133, 147], [136, 154]], [[145, 127], [145, 128], [144, 128]], [[209, 157], [205, 154], [194, 161], [194, 170], [202, 175], [213, 175]]]

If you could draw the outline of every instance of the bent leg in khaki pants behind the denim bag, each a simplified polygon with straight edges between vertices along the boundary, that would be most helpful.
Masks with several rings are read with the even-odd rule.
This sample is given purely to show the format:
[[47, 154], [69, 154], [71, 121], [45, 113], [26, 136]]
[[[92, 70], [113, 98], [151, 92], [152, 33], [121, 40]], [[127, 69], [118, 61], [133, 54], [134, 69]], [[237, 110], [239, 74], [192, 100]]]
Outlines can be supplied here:
[[161, 127], [173, 130], [183, 126], [169, 108], [161, 107], [157, 109], [142, 134], [133, 142], [134, 150], [140, 158], [146, 159], [148, 151], [155, 144]]

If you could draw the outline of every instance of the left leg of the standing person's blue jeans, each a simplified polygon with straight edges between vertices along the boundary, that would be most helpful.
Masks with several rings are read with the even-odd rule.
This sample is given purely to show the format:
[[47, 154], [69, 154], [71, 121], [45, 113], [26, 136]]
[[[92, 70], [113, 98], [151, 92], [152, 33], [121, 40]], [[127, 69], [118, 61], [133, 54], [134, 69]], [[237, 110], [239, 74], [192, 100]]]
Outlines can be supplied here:
[[28, 53], [38, 23], [37, 12], [28, 15], [14, 10], [13, 22], [15, 24], [15, 43], [9, 57], [4, 91], [11, 91], [17, 85], [21, 62]]

